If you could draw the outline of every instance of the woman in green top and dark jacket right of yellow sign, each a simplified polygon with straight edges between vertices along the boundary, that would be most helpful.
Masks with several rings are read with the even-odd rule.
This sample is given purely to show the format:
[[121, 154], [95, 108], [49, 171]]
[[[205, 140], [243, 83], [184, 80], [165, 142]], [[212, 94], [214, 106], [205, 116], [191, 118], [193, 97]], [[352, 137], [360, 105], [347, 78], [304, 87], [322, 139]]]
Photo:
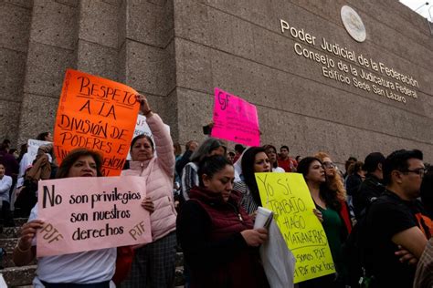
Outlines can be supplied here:
[[325, 170], [320, 159], [314, 157], [301, 159], [298, 164], [298, 172], [303, 175], [317, 210], [322, 212], [322, 226], [333, 254], [333, 263], [337, 272], [336, 275], [322, 276], [300, 283], [300, 288], [344, 287], [346, 272], [343, 264], [342, 245], [350, 228], [346, 226], [343, 220], [344, 216], [341, 213], [343, 203], [338, 197], [337, 191], [328, 188]]

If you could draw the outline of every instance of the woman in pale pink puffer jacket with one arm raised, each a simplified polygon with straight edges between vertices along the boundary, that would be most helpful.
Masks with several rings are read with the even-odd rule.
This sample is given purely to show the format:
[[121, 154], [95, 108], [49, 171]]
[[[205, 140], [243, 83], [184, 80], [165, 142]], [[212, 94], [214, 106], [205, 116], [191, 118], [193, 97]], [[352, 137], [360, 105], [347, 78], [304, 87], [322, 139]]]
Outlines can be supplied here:
[[138, 99], [154, 144], [147, 135], [132, 139], [130, 169], [123, 170], [121, 175], [142, 176], [146, 183], [147, 198], [143, 201], [143, 208], [151, 212], [153, 242], [135, 249], [131, 272], [121, 287], [174, 287], [177, 243], [173, 141], [163, 120], [153, 113], [147, 99], [142, 95]]

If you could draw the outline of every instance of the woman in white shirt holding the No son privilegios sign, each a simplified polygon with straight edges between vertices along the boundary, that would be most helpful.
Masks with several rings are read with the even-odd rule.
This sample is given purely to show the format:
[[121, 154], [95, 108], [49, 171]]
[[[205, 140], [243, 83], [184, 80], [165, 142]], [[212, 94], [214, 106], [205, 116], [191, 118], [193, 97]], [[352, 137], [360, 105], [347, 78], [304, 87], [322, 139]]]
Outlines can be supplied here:
[[[88, 149], [75, 149], [63, 159], [57, 178], [98, 177], [102, 176], [101, 167], [100, 154]], [[13, 254], [16, 265], [26, 265], [35, 259], [35, 235], [37, 230], [43, 227], [44, 222], [37, 220], [36, 205], [28, 222], [21, 228], [21, 238]], [[116, 248], [41, 257], [37, 259], [37, 276], [33, 285], [49, 288], [79, 284], [82, 287], [108, 288], [114, 274], [115, 262]]]

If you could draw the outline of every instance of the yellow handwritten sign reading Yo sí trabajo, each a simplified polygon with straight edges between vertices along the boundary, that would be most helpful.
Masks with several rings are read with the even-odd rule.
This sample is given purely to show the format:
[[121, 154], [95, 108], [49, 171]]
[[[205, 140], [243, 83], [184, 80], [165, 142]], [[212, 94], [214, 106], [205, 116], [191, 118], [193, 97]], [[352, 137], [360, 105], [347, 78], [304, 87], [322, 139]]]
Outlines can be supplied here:
[[312, 196], [301, 174], [256, 173], [263, 207], [274, 218], [296, 258], [294, 283], [335, 273], [333, 256]]

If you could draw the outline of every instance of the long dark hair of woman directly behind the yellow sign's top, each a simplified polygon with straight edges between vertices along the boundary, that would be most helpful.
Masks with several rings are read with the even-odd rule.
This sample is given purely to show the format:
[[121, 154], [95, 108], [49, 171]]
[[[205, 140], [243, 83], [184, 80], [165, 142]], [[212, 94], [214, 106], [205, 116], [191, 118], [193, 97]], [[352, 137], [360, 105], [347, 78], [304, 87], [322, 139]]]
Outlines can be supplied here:
[[254, 163], [256, 161], [256, 155], [260, 152], [266, 154], [263, 147], [251, 147], [247, 149], [242, 155], [242, 161], [240, 167], [242, 168], [242, 176], [245, 184], [248, 186], [248, 190], [251, 193], [252, 198], [258, 204], [261, 205], [259, 187], [257, 186], [256, 177], [254, 176]]

